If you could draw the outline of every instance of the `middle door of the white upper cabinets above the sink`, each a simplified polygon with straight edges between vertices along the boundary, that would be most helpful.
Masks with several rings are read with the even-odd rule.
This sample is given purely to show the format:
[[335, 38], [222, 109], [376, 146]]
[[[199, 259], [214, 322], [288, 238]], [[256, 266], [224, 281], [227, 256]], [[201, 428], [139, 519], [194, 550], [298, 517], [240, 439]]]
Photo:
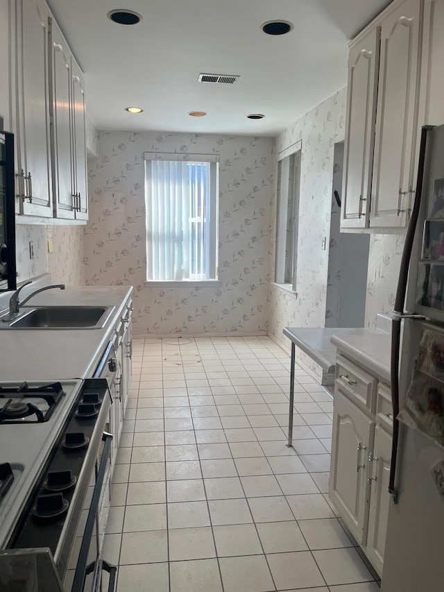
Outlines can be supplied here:
[[57, 218], [74, 219], [71, 52], [53, 20], [51, 22], [51, 70], [54, 212]]

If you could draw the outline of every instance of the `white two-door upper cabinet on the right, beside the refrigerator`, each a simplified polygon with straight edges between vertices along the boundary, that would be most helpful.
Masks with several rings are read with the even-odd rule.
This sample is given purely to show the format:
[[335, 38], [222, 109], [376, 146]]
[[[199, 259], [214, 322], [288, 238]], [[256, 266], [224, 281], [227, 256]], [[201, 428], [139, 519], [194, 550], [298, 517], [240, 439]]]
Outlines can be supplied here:
[[394, 0], [350, 44], [343, 230], [384, 232], [409, 223], [423, 121], [423, 3]]

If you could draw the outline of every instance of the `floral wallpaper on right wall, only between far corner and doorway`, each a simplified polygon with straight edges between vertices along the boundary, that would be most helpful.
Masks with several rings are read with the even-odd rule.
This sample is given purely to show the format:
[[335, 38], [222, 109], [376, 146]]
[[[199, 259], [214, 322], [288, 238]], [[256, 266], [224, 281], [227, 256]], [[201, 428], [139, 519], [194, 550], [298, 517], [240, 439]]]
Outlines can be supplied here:
[[[289, 347], [289, 340], [282, 335], [284, 327], [325, 325], [328, 249], [323, 250], [322, 243], [323, 239], [327, 244], [330, 240], [334, 144], [344, 139], [345, 101], [345, 89], [341, 89], [276, 138], [276, 153], [302, 141], [297, 294], [285, 293], [272, 285], [269, 306], [269, 331], [286, 347]], [[273, 228], [275, 204], [274, 196]], [[271, 262], [274, 261], [274, 248], [275, 244]], [[273, 273], [274, 270], [274, 278]], [[298, 356], [302, 356], [300, 350]], [[316, 366], [311, 361], [309, 363], [316, 371]]]

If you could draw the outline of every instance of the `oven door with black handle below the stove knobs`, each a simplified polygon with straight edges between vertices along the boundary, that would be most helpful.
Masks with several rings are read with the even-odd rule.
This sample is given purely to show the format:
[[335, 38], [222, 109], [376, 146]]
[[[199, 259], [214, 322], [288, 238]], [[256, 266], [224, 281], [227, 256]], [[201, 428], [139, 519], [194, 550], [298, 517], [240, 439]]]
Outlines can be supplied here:
[[[112, 434], [104, 432], [63, 581], [65, 592], [114, 592], [117, 568], [101, 557], [110, 504], [111, 453]], [[109, 576], [102, 577], [103, 572]]]

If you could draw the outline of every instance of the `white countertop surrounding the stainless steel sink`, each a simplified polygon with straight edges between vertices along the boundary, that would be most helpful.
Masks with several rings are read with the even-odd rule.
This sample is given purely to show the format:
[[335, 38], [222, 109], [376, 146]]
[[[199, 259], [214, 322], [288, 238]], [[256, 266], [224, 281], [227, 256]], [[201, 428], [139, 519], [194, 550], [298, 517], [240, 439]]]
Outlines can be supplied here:
[[[36, 284], [26, 288], [32, 291], [35, 287]], [[29, 308], [42, 305], [115, 308], [101, 329], [0, 329], [0, 379], [60, 380], [91, 376], [132, 291], [131, 286], [85, 286], [37, 294], [29, 302]]]

